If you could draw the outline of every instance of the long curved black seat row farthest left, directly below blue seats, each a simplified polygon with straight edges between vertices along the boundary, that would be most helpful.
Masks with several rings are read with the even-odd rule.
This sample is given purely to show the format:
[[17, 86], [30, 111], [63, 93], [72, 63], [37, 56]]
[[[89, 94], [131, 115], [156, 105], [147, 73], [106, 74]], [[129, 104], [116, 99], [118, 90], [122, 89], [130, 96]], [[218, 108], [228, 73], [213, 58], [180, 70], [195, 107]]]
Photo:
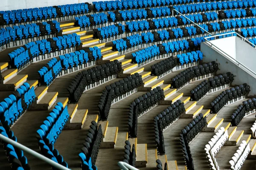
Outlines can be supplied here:
[[67, 88], [70, 95], [70, 102], [78, 102], [88, 85], [116, 75], [121, 70], [122, 63], [114, 60], [79, 72]]

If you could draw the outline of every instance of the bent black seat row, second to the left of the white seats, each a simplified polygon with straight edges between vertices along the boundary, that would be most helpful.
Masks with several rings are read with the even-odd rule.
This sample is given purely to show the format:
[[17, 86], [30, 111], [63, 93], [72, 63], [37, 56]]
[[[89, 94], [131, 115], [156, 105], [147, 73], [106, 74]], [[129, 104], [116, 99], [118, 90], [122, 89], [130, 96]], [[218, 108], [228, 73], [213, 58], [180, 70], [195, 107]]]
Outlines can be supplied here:
[[174, 102], [171, 106], [164, 109], [164, 111], [161, 111], [161, 113], [154, 117], [155, 142], [157, 145], [157, 152], [159, 154], [165, 153], [163, 130], [171, 125], [184, 112], [184, 103], [177, 100], [177, 102]]

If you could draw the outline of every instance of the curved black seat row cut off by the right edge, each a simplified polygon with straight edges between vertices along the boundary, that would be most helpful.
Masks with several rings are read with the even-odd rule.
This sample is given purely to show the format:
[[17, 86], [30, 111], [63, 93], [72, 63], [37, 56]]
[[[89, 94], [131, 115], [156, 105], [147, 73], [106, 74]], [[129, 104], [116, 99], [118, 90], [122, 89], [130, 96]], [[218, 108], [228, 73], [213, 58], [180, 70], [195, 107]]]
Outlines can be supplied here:
[[[238, 89], [240, 91], [240, 89]], [[248, 99], [239, 105], [231, 115], [232, 126], [237, 126], [247, 113], [253, 112], [256, 108], [256, 99]]]

